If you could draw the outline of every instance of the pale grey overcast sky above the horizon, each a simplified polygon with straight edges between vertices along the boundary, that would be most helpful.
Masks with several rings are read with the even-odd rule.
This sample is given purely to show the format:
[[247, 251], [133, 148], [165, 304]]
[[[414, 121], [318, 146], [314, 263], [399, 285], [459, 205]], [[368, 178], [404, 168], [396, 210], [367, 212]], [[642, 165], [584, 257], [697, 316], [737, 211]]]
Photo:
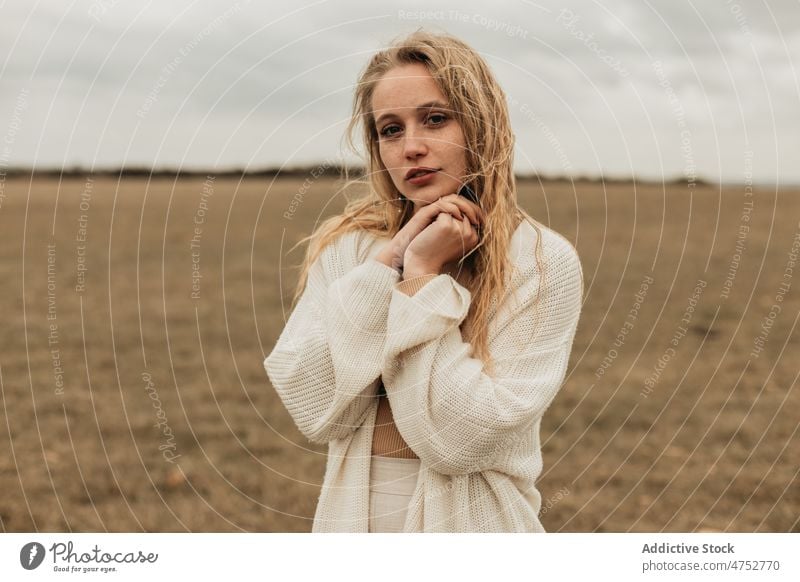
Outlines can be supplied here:
[[339, 159], [358, 72], [420, 26], [488, 61], [518, 172], [800, 183], [798, 0], [6, 1], [0, 169]]

